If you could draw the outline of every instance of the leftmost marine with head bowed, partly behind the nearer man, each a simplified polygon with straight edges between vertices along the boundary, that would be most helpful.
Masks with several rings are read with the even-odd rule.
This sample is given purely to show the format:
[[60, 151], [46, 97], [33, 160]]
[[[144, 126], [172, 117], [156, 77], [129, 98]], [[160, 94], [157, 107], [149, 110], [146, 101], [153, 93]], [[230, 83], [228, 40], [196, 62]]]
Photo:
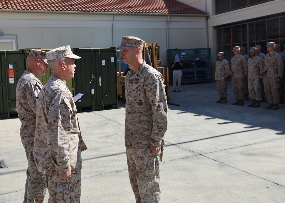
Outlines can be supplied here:
[[47, 69], [46, 52], [30, 49], [28, 67], [17, 83], [16, 106], [21, 121], [20, 136], [25, 148], [28, 169], [25, 186], [25, 202], [43, 202], [46, 194], [46, 175], [38, 171], [34, 161], [34, 134], [36, 129], [36, 100], [42, 89], [37, 75]]

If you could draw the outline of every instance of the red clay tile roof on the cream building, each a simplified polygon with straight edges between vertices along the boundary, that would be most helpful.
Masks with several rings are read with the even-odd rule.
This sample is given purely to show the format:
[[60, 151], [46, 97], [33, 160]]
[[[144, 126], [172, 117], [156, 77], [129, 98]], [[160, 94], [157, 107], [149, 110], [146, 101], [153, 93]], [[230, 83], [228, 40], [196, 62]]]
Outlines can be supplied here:
[[[113, 13], [113, 0], [0, 0], [0, 10]], [[115, 0], [115, 13], [207, 14], [176, 0]]]

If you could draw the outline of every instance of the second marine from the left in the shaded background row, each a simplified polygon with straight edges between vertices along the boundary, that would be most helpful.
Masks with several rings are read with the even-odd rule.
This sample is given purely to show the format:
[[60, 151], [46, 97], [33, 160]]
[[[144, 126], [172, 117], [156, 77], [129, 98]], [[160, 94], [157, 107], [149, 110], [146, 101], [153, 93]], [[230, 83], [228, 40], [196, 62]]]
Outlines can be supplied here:
[[237, 101], [232, 103], [233, 105], [243, 105], [243, 100], [245, 100], [245, 88], [243, 80], [247, 77], [247, 61], [245, 57], [240, 54], [240, 47], [233, 47], [233, 52], [235, 56], [231, 59], [231, 72], [232, 76], [232, 88], [233, 94]]

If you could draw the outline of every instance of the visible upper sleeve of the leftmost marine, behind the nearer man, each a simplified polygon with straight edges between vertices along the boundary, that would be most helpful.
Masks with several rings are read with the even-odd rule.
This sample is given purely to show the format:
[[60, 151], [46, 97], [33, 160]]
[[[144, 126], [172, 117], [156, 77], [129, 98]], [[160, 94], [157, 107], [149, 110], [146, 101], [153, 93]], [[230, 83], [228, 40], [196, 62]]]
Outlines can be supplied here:
[[28, 101], [28, 105], [31, 107], [32, 111], [36, 114], [36, 100], [38, 98], [38, 93], [42, 88], [38, 85], [35, 80], [28, 82], [25, 85], [25, 93]]

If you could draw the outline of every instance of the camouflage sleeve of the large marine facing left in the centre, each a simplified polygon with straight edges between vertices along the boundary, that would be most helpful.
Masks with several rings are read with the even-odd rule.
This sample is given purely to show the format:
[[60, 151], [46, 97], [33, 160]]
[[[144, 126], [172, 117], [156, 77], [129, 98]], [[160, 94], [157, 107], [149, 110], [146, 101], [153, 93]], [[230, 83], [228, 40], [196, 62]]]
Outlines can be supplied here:
[[160, 146], [167, 130], [167, 98], [162, 76], [151, 74], [145, 81], [146, 97], [152, 106], [150, 145]]

